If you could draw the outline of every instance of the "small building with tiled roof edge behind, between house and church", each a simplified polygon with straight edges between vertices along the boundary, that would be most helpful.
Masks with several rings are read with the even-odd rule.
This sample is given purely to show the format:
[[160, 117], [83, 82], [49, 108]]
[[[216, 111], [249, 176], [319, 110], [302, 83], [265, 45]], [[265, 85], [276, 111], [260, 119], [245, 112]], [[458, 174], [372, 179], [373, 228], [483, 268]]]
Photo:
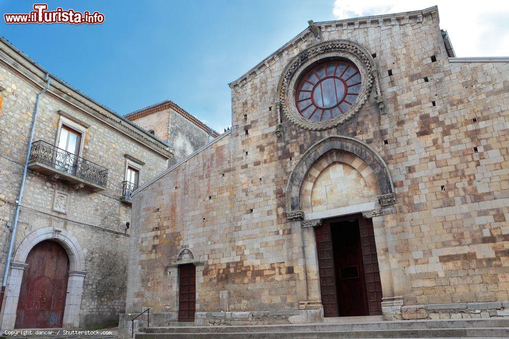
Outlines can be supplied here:
[[169, 100], [129, 113], [125, 117], [168, 141], [174, 155], [168, 167], [219, 136], [216, 131]]

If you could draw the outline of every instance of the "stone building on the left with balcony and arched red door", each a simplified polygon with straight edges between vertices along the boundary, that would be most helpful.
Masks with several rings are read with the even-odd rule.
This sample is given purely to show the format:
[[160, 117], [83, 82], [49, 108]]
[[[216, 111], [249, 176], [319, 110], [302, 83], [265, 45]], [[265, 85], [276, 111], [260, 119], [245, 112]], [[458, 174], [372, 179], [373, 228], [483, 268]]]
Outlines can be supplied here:
[[[46, 73], [0, 39], [2, 274]], [[131, 193], [175, 163], [168, 145], [173, 131], [158, 138], [61, 79], [49, 75], [49, 81], [39, 104], [2, 329], [115, 324], [125, 310]], [[174, 127], [196, 124], [182, 119]], [[202, 137], [192, 150], [206, 142]]]

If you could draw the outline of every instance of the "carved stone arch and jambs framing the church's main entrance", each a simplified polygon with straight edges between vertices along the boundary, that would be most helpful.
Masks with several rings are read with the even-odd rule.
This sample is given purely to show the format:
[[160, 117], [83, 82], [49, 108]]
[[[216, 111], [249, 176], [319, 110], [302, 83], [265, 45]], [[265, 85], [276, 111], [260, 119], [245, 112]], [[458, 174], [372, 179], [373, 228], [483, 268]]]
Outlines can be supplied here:
[[[365, 161], [377, 177], [381, 195], [376, 200], [353, 206], [346, 206], [336, 210], [326, 210], [320, 213], [320, 219], [310, 220], [301, 210], [300, 192], [306, 173], [315, 163], [329, 151], [341, 150], [353, 153]], [[299, 293], [299, 309], [321, 306], [320, 281], [318, 274], [317, 244], [315, 227], [322, 224], [323, 219], [341, 217], [343, 215], [362, 213], [364, 218], [371, 218], [375, 231], [375, 241], [382, 281], [382, 312], [391, 312], [389, 306], [401, 306], [402, 298], [394, 295], [392, 267], [390, 265], [387, 237], [384, 226], [384, 214], [394, 212], [394, 186], [388, 166], [380, 155], [366, 143], [355, 138], [344, 136], [326, 137], [311, 146], [297, 163], [290, 174], [286, 188], [286, 217], [289, 222], [300, 223], [302, 237], [302, 255], [304, 259], [304, 292]], [[316, 217], [315, 217], [316, 218]]]

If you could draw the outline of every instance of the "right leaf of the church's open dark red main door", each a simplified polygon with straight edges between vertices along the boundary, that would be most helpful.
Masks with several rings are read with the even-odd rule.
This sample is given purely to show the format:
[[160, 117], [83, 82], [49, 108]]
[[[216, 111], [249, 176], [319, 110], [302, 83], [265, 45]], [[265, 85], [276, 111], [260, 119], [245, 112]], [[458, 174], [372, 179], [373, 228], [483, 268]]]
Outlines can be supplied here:
[[371, 219], [359, 219], [359, 229], [369, 315], [378, 316], [382, 314], [382, 283], [380, 281], [373, 221]]

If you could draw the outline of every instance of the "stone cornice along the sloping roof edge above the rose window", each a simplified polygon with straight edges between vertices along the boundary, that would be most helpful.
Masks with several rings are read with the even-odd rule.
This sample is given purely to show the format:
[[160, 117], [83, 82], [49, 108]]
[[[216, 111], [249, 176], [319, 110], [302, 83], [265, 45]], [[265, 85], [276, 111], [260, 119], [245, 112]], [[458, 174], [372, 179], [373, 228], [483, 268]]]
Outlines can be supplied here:
[[[438, 17], [438, 7], [433, 6], [420, 11], [411, 11], [411, 12], [402, 12], [402, 13], [394, 13], [394, 14], [385, 14], [385, 15], [375, 15], [375, 16], [365, 16], [360, 18], [351, 18], [351, 19], [342, 19], [342, 20], [333, 20], [333, 21], [322, 21], [315, 22], [314, 24], [320, 27], [321, 31], [324, 31], [328, 27], [333, 27], [334, 29], [340, 27], [341, 29], [357, 29], [357, 28], [366, 28], [366, 27], [376, 27], [376, 26], [393, 26], [393, 25], [403, 25], [403, 24], [413, 24], [422, 22], [424, 17], [429, 15], [436, 15]], [[296, 49], [301, 42], [307, 41], [308, 39], [315, 39], [311, 32], [311, 28], [308, 26], [304, 29], [300, 34], [298, 34], [295, 38], [287, 42], [285, 45], [281, 46], [275, 52], [267, 56], [265, 59], [260, 61], [258, 65], [254, 66], [240, 78], [235, 81], [230, 82], [228, 85], [233, 88], [235, 86], [243, 86], [248, 81], [256, 77], [258, 74], [263, 72], [270, 66], [274, 60], [277, 61], [282, 54], [287, 54], [292, 49]]]

